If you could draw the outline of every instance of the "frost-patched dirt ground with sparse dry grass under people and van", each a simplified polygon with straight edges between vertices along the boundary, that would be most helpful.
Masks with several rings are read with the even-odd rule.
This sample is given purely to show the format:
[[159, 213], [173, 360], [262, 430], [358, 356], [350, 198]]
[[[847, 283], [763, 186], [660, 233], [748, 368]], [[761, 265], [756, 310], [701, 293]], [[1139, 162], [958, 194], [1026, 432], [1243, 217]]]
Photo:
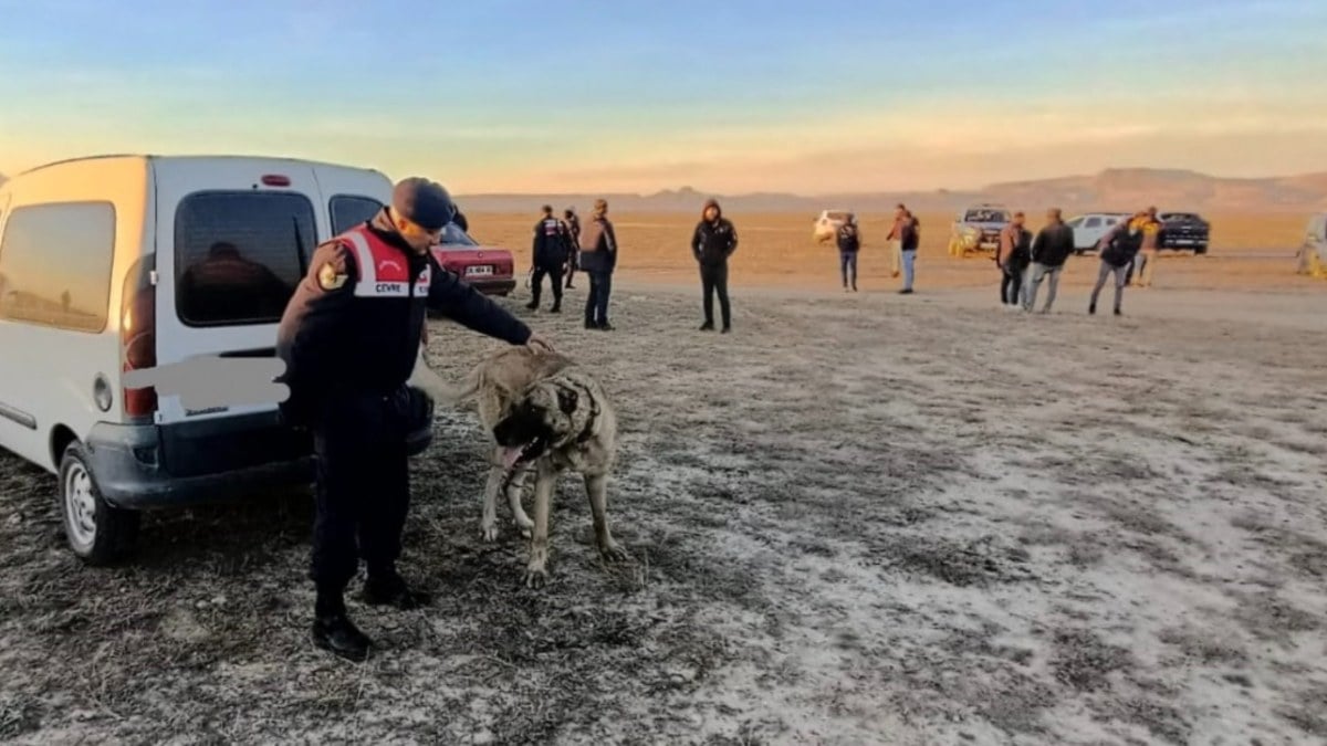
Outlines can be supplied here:
[[[438, 600], [352, 597], [362, 666], [308, 642], [307, 496], [151, 515], [88, 569], [0, 455], [0, 741], [1323, 742], [1327, 287], [1214, 251], [1093, 317], [1071, 261], [1047, 316], [979, 259], [924, 256], [906, 297], [735, 271], [730, 336], [685, 263], [624, 271], [610, 333], [583, 283], [561, 316], [519, 291], [617, 404], [633, 561], [569, 477], [523, 588], [510, 523], [479, 540], [476, 417], [442, 413], [403, 559]], [[449, 376], [495, 349], [431, 340]]]

